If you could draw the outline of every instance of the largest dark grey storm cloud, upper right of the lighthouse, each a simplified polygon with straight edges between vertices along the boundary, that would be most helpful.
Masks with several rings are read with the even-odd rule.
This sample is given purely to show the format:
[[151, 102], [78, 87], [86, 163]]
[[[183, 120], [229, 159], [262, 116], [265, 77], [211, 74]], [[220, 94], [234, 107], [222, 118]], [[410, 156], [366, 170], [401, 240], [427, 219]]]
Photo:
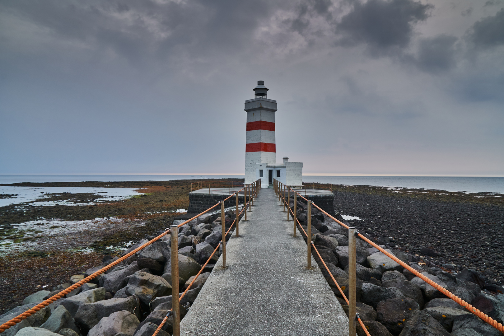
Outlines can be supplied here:
[[353, 10], [337, 25], [337, 32], [346, 44], [366, 43], [374, 51], [406, 47], [414, 25], [429, 17], [432, 5], [411, 0], [355, 1]]

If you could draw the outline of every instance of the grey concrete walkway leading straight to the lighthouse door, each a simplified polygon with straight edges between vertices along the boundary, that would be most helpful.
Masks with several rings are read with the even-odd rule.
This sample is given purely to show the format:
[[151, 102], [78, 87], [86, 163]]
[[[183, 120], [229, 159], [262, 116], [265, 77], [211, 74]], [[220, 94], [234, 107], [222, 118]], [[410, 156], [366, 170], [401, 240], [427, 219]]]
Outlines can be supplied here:
[[306, 244], [279, 205], [273, 189], [260, 191], [228, 241], [227, 268], [219, 258], [181, 335], [348, 335], [348, 318], [313, 257], [306, 268]]

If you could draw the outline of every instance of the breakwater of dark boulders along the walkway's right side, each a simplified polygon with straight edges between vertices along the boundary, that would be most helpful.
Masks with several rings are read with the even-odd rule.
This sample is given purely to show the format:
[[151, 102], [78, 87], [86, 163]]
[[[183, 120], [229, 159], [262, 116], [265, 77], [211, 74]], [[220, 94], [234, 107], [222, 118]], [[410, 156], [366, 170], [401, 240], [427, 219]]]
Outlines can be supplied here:
[[[294, 209], [293, 200], [291, 200], [290, 208]], [[339, 214], [336, 213], [336, 215]], [[306, 231], [306, 203], [298, 201], [297, 218]], [[348, 229], [312, 207], [311, 234], [311, 240], [331, 274], [343, 293], [348, 296]], [[306, 241], [304, 235], [303, 238]], [[480, 273], [469, 268], [459, 273], [447, 268], [442, 269], [436, 264], [429, 263], [428, 260], [422, 262], [423, 259], [417, 255], [401, 251], [397, 245], [390, 243], [388, 237], [381, 237], [378, 240], [368, 238], [422, 275], [503, 323], [503, 289], [498, 286], [494, 288], [495, 291], [485, 289], [487, 279]], [[424, 252], [430, 253], [427, 249]], [[312, 250], [312, 254], [348, 314], [346, 301], [317, 253]], [[464, 307], [447, 298], [360, 238], [356, 241], [356, 256], [357, 312], [372, 336], [502, 335], [497, 329], [468, 312]], [[360, 326], [357, 326], [357, 334], [365, 335]]]

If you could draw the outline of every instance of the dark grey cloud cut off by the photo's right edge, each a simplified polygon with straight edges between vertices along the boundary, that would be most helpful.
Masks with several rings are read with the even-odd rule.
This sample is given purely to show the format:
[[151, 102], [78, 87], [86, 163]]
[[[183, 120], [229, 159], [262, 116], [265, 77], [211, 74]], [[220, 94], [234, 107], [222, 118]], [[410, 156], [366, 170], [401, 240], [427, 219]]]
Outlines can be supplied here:
[[494, 16], [488, 16], [476, 22], [469, 33], [469, 40], [476, 47], [481, 48], [504, 44], [504, 9]]

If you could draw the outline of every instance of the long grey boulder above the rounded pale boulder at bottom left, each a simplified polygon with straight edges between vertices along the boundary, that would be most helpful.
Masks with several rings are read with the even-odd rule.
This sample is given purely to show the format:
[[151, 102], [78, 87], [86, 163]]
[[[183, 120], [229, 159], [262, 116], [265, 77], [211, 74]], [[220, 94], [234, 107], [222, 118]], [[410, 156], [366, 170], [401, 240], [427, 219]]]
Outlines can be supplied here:
[[95, 303], [85, 303], [75, 314], [75, 321], [81, 329], [89, 330], [103, 318], [117, 311], [129, 311], [140, 318], [140, 300], [136, 296], [128, 298], [112, 298]]

